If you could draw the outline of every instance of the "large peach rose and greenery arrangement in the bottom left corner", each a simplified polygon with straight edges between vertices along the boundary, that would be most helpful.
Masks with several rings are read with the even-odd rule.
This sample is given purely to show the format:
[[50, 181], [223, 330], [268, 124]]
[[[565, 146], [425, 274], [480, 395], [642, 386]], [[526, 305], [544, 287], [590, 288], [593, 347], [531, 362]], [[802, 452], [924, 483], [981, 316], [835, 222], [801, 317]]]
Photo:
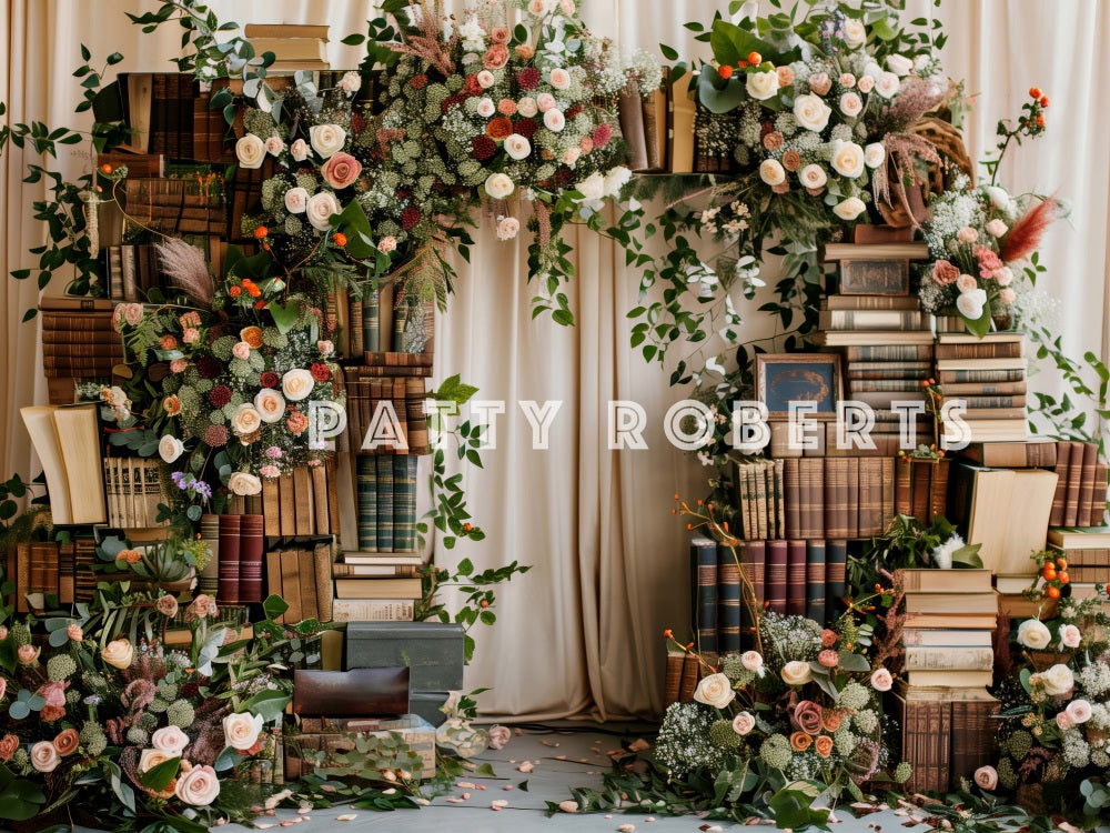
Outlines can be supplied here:
[[49, 614], [42, 643], [37, 620], [0, 610], [0, 819], [95, 809], [97, 826], [191, 832], [250, 817], [263, 797], [250, 770], [272, 769], [268, 725], [289, 701], [268, 668], [280, 640], [231, 642], [203, 594], [183, 611], [186, 646], [143, 635], [178, 612], [172, 595], [101, 585], [75, 615]]

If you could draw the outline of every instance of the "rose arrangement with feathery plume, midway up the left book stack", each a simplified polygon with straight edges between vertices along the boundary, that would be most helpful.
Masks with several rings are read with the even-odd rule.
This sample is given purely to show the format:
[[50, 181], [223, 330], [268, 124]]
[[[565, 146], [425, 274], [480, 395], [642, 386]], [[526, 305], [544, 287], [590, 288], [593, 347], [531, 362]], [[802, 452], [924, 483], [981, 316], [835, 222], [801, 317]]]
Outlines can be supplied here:
[[[149, 401], [143, 430], [117, 436], [148, 449], [154, 442], [162, 460], [176, 466], [172, 482], [182, 496], [201, 502], [215, 482], [234, 494], [258, 494], [262, 479], [319, 465], [331, 445], [313, 439], [316, 428], [345, 401], [320, 308], [290, 293], [286, 281], [266, 277], [265, 252], [233, 253], [228, 278], [214, 281], [193, 247], [172, 240], [160, 248], [195, 307], [115, 308], [135, 377], [143, 384], [160, 380], [134, 394]], [[152, 373], [154, 365], [161, 372]], [[114, 402], [119, 394], [111, 397]], [[200, 505], [193, 505], [198, 516], [190, 520], [196, 521]]]

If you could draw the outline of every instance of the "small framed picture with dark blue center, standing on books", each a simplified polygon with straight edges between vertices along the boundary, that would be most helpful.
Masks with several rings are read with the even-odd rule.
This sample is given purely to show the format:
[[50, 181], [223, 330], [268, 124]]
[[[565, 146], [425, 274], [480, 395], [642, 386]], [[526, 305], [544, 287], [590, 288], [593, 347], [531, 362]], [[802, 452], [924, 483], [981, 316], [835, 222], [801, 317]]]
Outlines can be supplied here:
[[768, 419], [790, 416], [790, 402], [816, 402], [810, 419], [836, 419], [844, 395], [840, 357], [835, 353], [760, 353], [756, 355], [756, 399], [767, 405]]

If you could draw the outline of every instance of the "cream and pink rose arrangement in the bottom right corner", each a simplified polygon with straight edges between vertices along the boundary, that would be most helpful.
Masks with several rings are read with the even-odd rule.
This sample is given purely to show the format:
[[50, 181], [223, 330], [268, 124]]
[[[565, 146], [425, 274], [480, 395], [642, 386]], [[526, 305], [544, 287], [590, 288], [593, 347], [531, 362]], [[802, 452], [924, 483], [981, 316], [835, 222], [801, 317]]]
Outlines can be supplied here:
[[[1026, 620], [1015, 634], [1022, 662], [997, 692], [1003, 720], [995, 774], [1030, 811], [1074, 815], [1076, 796], [1082, 794], [1084, 821], [1106, 821], [1106, 811], [1090, 801], [1110, 770], [1106, 601], [1104, 592], [1092, 600], [1061, 600], [1054, 619]], [[985, 783], [990, 774], [983, 774]]]

